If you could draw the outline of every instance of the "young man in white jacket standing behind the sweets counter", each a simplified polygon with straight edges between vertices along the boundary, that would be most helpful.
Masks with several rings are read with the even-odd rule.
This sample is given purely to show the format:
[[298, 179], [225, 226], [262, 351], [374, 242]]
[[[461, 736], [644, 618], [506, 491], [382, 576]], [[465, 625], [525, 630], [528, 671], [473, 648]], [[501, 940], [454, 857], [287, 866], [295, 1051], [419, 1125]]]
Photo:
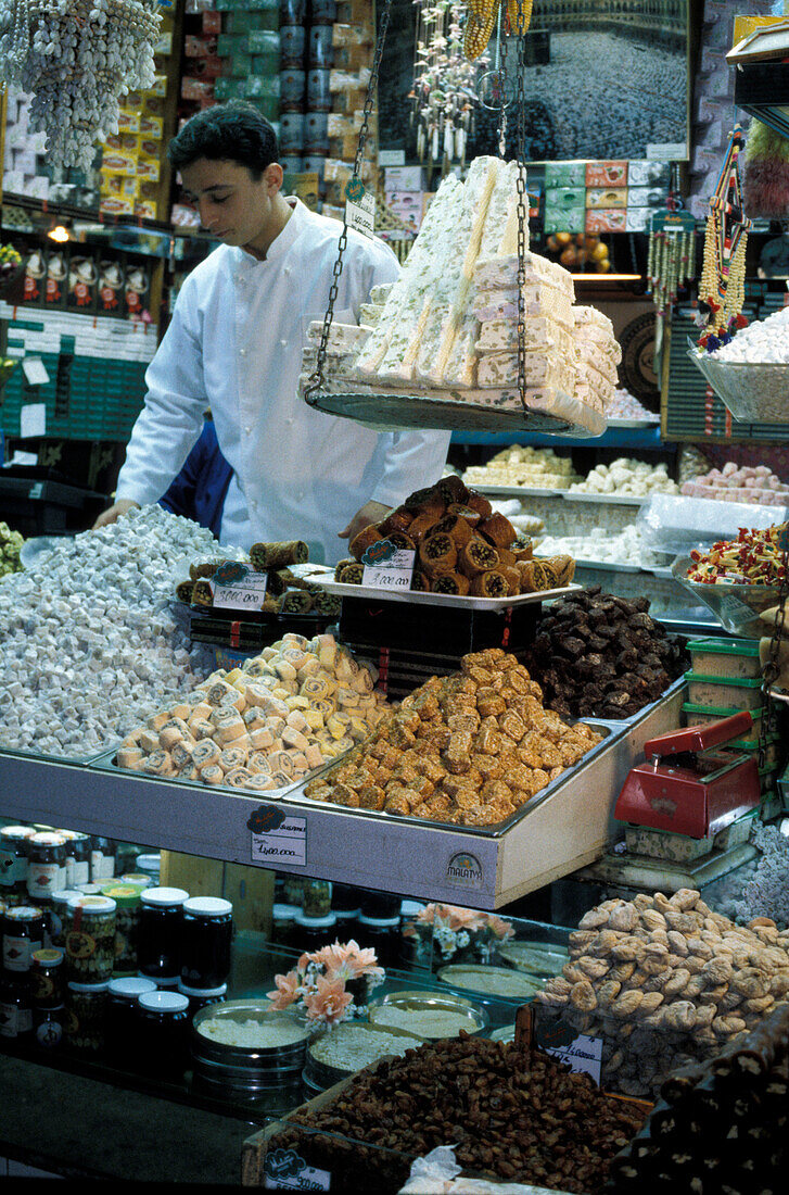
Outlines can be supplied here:
[[[281, 194], [269, 122], [251, 105], [192, 117], [168, 148], [202, 225], [222, 245], [186, 278], [146, 374], [115, 504], [95, 526], [156, 502], [211, 409], [234, 476], [222, 541], [304, 539], [335, 563], [343, 539], [440, 476], [448, 433], [377, 434], [322, 415], [297, 393], [308, 325], [328, 302], [340, 225]], [[349, 231], [338, 323], [357, 323], [370, 289], [397, 276], [394, 253]]]

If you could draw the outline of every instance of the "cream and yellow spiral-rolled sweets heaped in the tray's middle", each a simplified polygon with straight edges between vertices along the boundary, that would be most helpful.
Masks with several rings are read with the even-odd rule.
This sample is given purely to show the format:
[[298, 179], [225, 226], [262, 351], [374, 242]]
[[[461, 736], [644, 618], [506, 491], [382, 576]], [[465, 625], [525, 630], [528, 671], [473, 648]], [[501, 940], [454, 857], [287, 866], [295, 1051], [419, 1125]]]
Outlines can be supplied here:
[[284, 789], [366, 739], [387, 709], [377, 673], [332, 635], [288, 633], [154, 713], [118, 765], [258, 792]]

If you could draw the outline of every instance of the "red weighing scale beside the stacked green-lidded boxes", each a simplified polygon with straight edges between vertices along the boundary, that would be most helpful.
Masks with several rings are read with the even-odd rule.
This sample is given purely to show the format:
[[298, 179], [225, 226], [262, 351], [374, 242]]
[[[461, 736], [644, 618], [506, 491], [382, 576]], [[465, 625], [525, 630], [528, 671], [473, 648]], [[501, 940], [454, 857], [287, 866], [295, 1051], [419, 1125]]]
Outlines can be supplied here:
[[715, 750], [753, 725], [747, 710], [703, 727], [686, 727], [649, 739], [647, 762], [630, 770], [615, 817], [633, 826], [708, 838], [760, 799], [753, 755]]

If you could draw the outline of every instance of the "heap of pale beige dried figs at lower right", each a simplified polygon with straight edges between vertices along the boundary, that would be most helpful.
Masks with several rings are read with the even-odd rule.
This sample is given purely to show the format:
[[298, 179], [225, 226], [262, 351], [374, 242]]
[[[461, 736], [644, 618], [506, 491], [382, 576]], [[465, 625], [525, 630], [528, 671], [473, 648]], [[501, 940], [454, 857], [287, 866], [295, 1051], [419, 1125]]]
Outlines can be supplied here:
[[720, 1052], [789, 994], [789, 931], [714, 913], [692, 889], [590, 909], [541, 1011], [603, 1037], [602, 1085], [629, 1096]]

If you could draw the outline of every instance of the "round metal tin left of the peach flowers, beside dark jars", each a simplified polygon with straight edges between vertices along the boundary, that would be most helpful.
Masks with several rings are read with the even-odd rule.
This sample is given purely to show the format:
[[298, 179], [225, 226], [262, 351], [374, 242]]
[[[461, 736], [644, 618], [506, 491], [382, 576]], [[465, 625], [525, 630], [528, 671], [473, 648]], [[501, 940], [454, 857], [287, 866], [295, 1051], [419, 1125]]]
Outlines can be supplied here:
[[[282, 1046], [236, 1046], [207, 1036], [207, 1022], [292, 1027], [301, 1036]], [[310, 1029], [296, 1013], [272, 1010], [266, 1000], [209, 1004], [192, 1018], [191, 1049], [201, 1078], [233, 1091], [253, 1092], [296, 1083], [307, 1056]]]

